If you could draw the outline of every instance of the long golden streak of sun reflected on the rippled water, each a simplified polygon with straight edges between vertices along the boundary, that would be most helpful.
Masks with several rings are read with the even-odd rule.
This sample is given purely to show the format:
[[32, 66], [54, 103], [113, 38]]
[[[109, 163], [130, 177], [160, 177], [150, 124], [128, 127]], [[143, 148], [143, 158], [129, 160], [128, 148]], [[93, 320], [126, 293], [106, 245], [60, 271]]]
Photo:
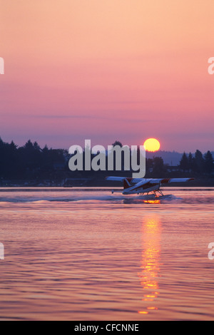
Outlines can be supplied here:
[[141, 272], [138, 274], [143, 287], [143, 299], [146, 310], [139, 314], [148, 314], [158, 309], [156, 299], [159, 292], [158, 277], [160, 277], [161, 257], [161, 220], [158, 215], [146, 216], [142, 225], [142, 260]]

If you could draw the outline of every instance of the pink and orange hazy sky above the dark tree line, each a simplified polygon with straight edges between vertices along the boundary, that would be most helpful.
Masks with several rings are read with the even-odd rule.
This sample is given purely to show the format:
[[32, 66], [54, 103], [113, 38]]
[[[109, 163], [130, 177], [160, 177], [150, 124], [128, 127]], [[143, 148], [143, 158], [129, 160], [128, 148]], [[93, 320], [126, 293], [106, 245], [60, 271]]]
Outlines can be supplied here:
[[0, 136], [214, 150], [213, 0], [0, 0]]

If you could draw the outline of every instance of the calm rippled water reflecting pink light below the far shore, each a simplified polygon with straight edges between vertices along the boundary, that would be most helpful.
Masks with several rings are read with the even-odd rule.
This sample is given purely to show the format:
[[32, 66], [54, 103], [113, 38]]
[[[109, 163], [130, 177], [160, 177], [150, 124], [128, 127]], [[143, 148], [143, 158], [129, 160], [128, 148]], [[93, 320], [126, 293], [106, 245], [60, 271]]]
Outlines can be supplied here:
[[164, 193], [1, 188], [0, 319], [214, 320], [214, 188]]

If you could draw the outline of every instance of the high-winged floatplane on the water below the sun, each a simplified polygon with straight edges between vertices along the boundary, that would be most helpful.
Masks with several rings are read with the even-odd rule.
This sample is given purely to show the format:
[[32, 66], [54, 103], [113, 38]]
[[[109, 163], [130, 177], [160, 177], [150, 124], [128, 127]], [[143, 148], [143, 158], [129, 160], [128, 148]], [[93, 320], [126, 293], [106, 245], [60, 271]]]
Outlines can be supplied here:
[[143, 195], [153, 193], [158, 196], [163, 196], [163, 192], [160, 190], [163, 184], [169, 184], [170, 182], [188, 182], [194, 180], [194, 178], [161, 178], [161, 179], [148, 179], [148, 178], [130, 178], [130, 177], [106, 177], [106, 180], [120, 181], [123, 182], [123, 190], [111, 190], [114, 192], [122, 192], [123, 195]]

